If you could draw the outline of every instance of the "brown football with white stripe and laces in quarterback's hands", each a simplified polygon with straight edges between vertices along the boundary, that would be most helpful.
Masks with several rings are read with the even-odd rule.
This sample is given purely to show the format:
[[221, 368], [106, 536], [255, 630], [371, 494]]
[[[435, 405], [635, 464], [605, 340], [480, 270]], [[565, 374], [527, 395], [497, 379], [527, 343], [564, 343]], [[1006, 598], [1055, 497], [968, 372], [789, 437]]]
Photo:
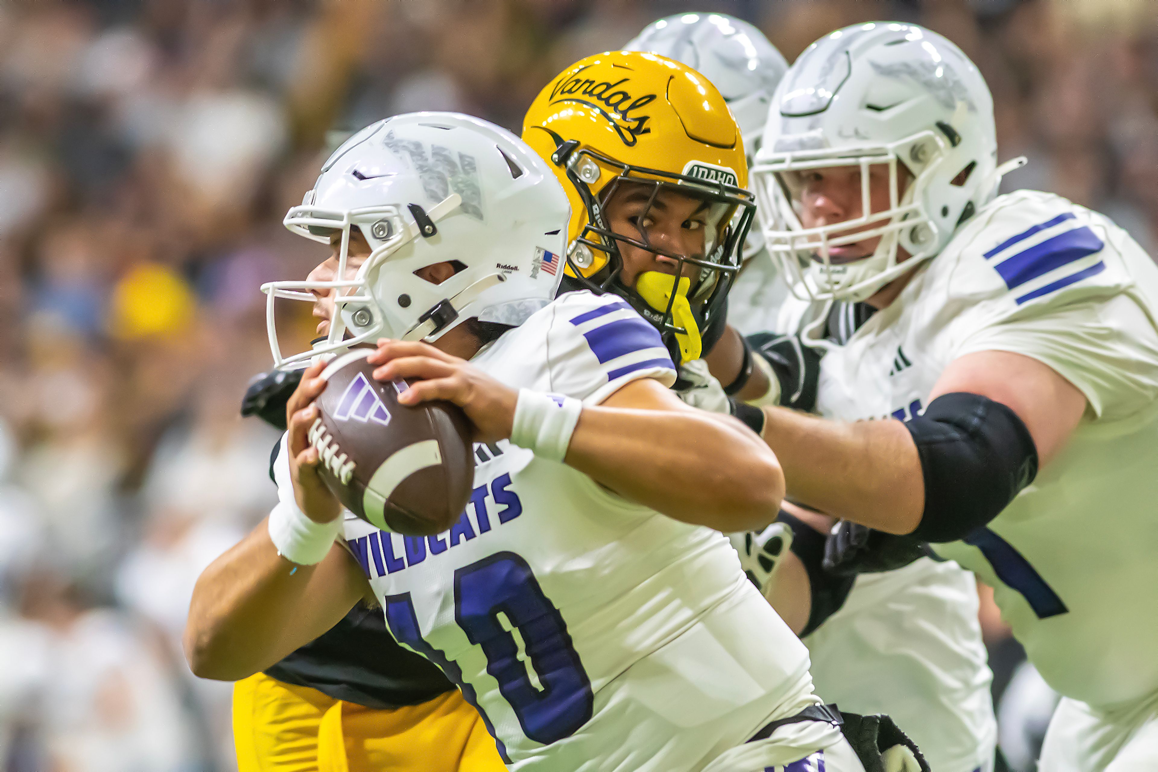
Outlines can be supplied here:
[[439, 534], [470, 500], [470, 422], [447, 402], [398, 404], [406, 384], [375, 381], [366, 362], [372, 351], [343, 354], [322, 373], [328, 383], [309, 429], [322, 479], [344, 507], [378, 528]]

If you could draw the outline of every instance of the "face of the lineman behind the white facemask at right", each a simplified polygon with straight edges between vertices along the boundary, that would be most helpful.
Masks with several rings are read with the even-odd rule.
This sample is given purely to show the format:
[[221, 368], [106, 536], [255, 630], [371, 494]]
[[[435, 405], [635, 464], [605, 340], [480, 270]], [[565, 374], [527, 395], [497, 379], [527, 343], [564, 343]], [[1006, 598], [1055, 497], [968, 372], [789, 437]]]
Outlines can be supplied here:
[[[868, 206], [871, 214], [889, 208], [889, 175], [887, 163], [875, 163], [868, 167]], [[848, 220], [855, 220], [865, 214], [864, 199], [860, 190], [859, 167], [828, 167], [787, 171], [780, 179], [792, 199], [792, 206], [805, 228], [833, 226]], [[897, 164], [896, 181], [900, 198], [908, 188], [911, 175], [903, 164]], [[870, 221], [837, 236], [845, 236], [862, 230], [878, 228], [884, 222]], [[835, 264], [850, 263], [871, 256], [881, 236], [873, 236], [852, 244], [829, 248], [829, 259]]]

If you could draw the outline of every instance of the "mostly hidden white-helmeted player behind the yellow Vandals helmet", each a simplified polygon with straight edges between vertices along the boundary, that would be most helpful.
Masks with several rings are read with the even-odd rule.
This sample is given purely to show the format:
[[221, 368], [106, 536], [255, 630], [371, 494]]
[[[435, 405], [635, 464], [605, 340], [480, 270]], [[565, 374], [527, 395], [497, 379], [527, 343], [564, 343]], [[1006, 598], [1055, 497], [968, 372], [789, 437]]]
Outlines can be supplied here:
[[[758, 29], [723, 14], [679, 14], [652, 22], [624, 49], [662, 53], [706, 75], [727, 100], [749, 157], [755, 156], [772, 91], [787, 69]], [[777, 330], [787, 285], [758, 233], [749, 234], [745, 247], [743, 267], [728, 294], [728, 324], [742, 334]], [[834, 313], [837, 318], [857, 313], [850, 303], [841, 306]], [[853, 329], [844, 330], [844, 337]], [[770, 586], [785, 542], [791, 544], [786, 528], [776, 523], [765, 534], [733, 539], [745, 568], [763, 588]], [[798, 551], [804, 549], [797, 543]], [[882, 591], [886, 584], [888, 591]], [[901, 611], [911, 608], [926, 609], [926, 616], [941, 620], [941, 628], [959, 634], [947, 638]], [[813, 679], [826, 699], [846, 709], [892, 715], [935, 770], [987, 769], [996, 722], [976, 616], [973, 576], [953, 564], [924, 558], [896, 572], [866, 574], [831, 617], [822, 620], [818, 613], [806, 623]], [[879, 628], [889, 631], [888, 640]]]

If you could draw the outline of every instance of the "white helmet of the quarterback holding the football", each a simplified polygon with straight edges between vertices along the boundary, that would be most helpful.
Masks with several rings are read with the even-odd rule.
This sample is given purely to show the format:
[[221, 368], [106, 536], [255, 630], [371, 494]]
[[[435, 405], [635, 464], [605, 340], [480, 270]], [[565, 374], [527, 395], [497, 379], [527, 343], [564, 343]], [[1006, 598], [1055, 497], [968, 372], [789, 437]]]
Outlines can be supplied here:
[[[324, 244], [340, 231], [342, 245], [332, 281], [262, 286], [274, 366], [303, 367], [380, 337], [435, 340], [472, 317], [521, 324], [555, 299], [570, 216], [547, 161], [505, 128], [454, 112], [367, 126], [335, 150], [285, 216], [290, 230]], [[372, 251], [350, 278], [352, 227]], [[441, 284], [415, 274], [450, 260], [459, 271]], [[329, 336], [284, 356], [274, 299], [313, 303], [310, 291], [335, 291]]]

